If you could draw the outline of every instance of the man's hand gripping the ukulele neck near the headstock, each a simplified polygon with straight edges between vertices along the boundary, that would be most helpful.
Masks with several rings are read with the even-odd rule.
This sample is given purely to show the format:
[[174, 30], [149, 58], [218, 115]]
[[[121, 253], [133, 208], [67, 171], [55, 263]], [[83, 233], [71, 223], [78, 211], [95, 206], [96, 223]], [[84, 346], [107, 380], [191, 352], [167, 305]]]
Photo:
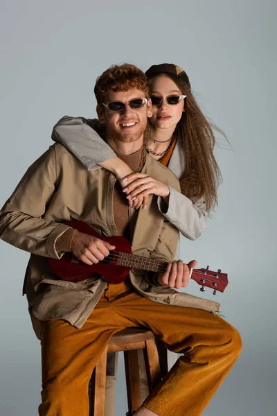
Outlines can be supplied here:
[[161, 286], [170, 286], [170, 288], [176, 289], [185, 288], [190, 279], [190, 268], [195, 268], [196, 265], [196, 260], [192, 260], [188, 264], [184, 264], [182, 260], [172, 261], [168, 263], [166, 272], [163, 275], [159, 274], [157, 281]]

